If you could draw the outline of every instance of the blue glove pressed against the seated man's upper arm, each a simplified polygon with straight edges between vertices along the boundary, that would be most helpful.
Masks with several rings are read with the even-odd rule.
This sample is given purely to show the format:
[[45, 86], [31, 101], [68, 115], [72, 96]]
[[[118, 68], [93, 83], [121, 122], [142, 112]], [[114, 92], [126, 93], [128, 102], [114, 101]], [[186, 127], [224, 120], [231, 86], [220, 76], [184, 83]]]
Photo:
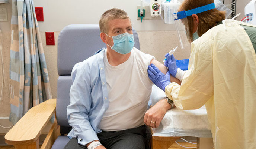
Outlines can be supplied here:
[[163, 91], [171, 83], [170, 73], [163, 74], [154, 64], [148, 66], [148, 78]]

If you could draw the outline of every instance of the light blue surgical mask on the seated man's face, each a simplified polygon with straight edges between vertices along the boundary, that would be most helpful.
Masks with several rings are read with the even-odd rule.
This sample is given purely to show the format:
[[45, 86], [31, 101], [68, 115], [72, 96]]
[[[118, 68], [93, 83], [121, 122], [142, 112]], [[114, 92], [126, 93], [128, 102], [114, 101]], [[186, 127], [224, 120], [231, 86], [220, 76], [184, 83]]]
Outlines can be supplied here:
[[[106, 35], [109, 36], [108, 34]], [[107, 45], [111, 47], [112, 50], [115, 50], [115, 52], [118, 52], [120, 54], [127, 54], [131, 52], [134, 46], [133, 34], [129, 34], [126, 32], [123, 34], [112, 36], [111, 38], [113, 38], [113, 46], [111, 47], [108, 44]]]

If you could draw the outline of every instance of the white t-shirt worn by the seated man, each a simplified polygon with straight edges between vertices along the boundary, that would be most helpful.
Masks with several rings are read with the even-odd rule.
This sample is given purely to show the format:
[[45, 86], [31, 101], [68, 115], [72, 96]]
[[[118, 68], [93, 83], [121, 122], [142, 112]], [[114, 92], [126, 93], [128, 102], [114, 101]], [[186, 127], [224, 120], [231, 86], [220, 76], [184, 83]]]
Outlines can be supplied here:
[[148, 65], [154, 56], [135, 47], [131, 56], [118, 66], [111, 66], [104, 53], [109, 108], [99, 124], [103, 131], [119, 131], [144, 125], [143, 118], [152, 90]]

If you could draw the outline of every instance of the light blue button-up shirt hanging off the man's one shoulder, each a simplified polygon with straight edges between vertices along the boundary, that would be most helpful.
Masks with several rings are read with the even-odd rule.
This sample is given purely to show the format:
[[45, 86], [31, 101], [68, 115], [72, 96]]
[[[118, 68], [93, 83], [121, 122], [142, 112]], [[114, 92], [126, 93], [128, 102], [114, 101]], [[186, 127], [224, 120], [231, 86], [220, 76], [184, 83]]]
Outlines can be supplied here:
[[72, 130], [69, 137], [77, 138], [78, 143], [86, 145], [99, 140], [102, 132], [98, 125], [109, 106], [108, 90], [103, 63], [104, 50], [77, 63], [72, 70], [73, 85], [70, 87], [70, 105], [67, 117]]

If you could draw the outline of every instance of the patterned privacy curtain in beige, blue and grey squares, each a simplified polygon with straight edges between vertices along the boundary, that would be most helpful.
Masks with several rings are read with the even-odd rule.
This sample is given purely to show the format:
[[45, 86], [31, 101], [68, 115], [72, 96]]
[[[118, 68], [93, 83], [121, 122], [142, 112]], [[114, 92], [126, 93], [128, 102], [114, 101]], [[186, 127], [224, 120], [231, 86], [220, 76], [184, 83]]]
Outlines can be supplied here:
[[51, 88], [33, 0], [12, 0], [10, 121], [51, 99]]

